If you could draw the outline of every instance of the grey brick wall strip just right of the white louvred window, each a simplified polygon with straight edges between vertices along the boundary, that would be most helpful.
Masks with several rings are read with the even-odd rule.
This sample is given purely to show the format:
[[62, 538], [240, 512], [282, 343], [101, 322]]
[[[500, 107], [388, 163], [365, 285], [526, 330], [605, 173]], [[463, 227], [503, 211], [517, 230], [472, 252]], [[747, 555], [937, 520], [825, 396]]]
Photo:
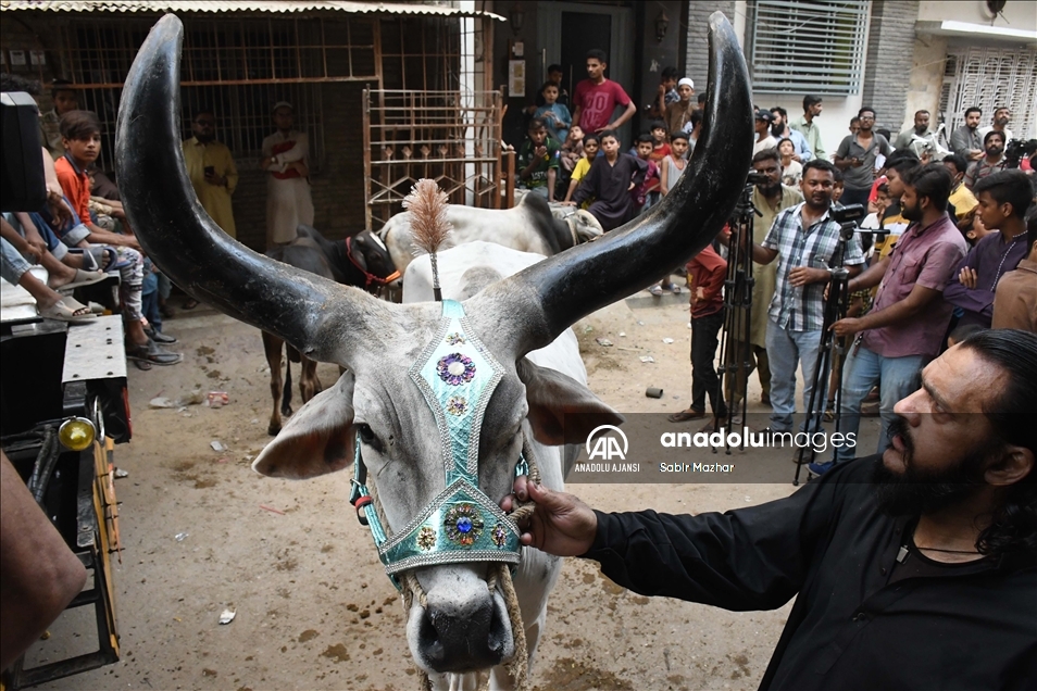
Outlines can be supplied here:
[[863, 104], [875, 109], [875, 127], [896, 137], [905, 120], [909, 75], [914, 56], [917, 0], [875, 0], [867, 36]]

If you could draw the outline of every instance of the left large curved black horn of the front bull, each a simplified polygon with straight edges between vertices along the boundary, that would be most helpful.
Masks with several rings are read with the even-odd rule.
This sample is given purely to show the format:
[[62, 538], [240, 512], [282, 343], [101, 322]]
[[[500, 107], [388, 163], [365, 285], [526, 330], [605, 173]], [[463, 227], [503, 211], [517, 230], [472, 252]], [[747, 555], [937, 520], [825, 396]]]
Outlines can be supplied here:
[[115, 161], [129, 222], [145, 251], [178, 286], [315, 360], [328, 360], [334, 343], [321, 337], [322, 325], [365, 296], [249, 250], [202, 209], [180, 150], [183, 37], [176, 16], [162, 17], [126, 77]]

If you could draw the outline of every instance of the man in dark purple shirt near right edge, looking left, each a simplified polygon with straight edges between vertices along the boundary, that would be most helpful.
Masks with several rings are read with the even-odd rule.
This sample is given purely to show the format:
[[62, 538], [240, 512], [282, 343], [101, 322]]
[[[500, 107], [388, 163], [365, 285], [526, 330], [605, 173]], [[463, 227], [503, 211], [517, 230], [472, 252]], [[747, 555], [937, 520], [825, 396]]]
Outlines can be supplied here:
[[959, 326], [990, 328], [998, 281], [1029, 251], [1025, 218], [1034, 191], [1022, 171], [994, 173], [976, 183], [975, 190], [983, 225], [999, 231], [987, 235], [969, 251], [947, 284], [944, 299], [964, 311]]

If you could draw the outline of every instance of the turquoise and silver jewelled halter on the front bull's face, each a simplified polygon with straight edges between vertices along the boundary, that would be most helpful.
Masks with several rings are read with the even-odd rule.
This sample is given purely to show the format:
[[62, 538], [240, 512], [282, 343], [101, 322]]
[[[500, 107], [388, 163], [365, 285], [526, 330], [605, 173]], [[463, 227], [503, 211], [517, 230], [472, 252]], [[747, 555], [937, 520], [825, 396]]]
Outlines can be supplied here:
[[[386, 574], [400, 590], [396, 575], [410, 568], [470, 562], [517, 564], [518, 531], [479, 489], [478, 477], [483, 416], [504, 369], [474, 336], [461, 303], [442, 301], [439, 329], [408, 374], [436, 417], [447, 487], [388, 537], [365, 483], [367, 469], [358, 436], [349, 501], [361, 523], [371, 528]], [[515, 475], [528, 472], [520, 455]]]

